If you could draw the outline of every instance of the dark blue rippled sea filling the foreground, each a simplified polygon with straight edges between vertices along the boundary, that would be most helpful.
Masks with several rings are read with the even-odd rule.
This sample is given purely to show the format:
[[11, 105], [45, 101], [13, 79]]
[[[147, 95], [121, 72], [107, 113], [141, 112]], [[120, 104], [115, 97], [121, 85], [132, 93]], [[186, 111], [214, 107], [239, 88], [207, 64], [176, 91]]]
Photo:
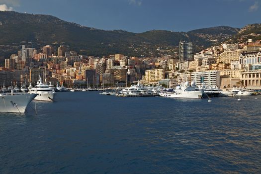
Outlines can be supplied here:
[[60, 92], [0, 113], [0, 174], [261, 173], [261, 96]]

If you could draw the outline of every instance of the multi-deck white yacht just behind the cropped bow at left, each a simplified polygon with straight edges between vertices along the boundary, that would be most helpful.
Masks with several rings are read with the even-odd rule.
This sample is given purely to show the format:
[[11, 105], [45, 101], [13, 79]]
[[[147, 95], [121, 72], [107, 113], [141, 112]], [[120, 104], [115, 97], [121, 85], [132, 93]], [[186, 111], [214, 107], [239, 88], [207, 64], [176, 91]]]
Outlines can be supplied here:
[[[29, 87], [28, 87], [29, 88]], [[29, 89], [29, 93], [38, 94], [34, 99], [41, 101], [53, 101], [56, 92], [52, 87], [43, 84], [41, 77], [39, 76], [39, 81], [37, 81], [37, 85]]]

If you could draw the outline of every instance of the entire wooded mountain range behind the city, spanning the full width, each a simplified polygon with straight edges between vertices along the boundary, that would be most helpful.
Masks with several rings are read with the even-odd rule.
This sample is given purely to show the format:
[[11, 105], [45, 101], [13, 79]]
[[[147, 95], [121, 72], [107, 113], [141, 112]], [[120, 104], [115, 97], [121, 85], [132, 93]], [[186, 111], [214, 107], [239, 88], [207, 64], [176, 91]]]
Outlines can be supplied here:
[[129, 56], [160, 56], [166, 53], [157, 51], [157, 48], [174, 50], [180, 40], [208, 47], [229, 38], [237, 40], [242, 34], [250, 35], [252, 31], [261, 31], [260, 25], [253, 25], [241, 30], [218, 26], [189, 32], [152, 30], [132, 33], [90, 28], [51, 15], [0, 11], [0, 56], [9, 57], [10, 54], [17, 53], [22, 44], [37, 49], [47, 44], [55, 47], [64, 44], [78, 53], [94, 56], [116, 53]]

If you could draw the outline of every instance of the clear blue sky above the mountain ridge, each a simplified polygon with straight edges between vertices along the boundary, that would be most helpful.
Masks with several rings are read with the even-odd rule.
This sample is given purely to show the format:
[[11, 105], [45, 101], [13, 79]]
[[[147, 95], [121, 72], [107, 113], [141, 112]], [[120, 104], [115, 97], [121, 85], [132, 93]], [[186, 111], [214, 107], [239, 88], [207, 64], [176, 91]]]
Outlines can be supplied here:
[[261, 0], [0, 0], [4, 9], [136, 33], [261, 23]]

